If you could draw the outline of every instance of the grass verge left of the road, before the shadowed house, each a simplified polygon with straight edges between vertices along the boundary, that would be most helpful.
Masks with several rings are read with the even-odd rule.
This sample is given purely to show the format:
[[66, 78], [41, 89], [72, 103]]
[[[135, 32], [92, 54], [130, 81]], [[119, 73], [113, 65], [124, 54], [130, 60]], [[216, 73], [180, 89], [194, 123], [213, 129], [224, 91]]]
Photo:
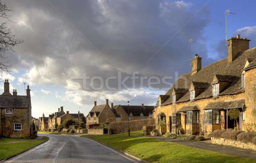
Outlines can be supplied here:
[[19, 153], [22, 153], [38, 144], [44, 143], [48, 140], [48, 137], [44, 136], [41, 140], [30, 140], [19, 143], [8, 143], [0, 145], [0, 160], [12, 157]]

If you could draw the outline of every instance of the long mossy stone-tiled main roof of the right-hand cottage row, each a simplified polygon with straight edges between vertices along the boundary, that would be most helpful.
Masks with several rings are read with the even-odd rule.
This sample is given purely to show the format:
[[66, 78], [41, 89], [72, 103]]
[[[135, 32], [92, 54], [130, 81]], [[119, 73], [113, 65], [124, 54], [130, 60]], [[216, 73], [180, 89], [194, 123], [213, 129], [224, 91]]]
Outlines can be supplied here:
[[[256, 59], [256, 48], [249, 49], [244, 51], [243, 53], [239, 53], [236, 56], [236, 59], [233, 62], [228, 62], [228, 59], [222, 59], [220, 61], [214, 62], [211, 65], [203, 67], [198, 73], [191, 75], [190, 73], [186, 73], [181, 75], [179, 79], [175, 82], [175, 84], [167, 91], [165, 95], [172, 95], [172, 91], [174, 88], [189, 88], [192, 82], [204, 82], [209, 83], [208, 86], [204, 89], [202, 93], [195, 97], [194, 100], [210, 98], [212, 97], [212, 79], [217, 75], [220, 80], [228, 80], [231, 83], [219, 93], [219, 96], [223, 95], [234, 95], [238, 93], [244, 92], [244, 89], [241, 88], [241, 70], [244, 68], [244, 61], [247, 58]], [[224, 79], [230, 78], [229, 76], [236, 76], [235, 80]], [[222, 78], [223, 77], [223, 78]], [[186, 79], [186, 80], [184, 80]], [[233, 78], [232, 78], [233, 79]], [[179, 98], [176, 103], [189, 101], [189, 91], [187, 91], [181, 98]], [[172, 98], [169, 97], [164, 103], [161, 105], [172, 104]]]

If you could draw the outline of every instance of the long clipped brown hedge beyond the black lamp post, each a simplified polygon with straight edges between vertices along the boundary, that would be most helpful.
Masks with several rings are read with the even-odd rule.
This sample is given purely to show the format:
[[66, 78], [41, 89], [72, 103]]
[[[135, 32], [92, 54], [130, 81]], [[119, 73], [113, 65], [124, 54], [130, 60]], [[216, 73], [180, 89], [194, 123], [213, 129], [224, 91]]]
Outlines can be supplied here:
[[[130, 121], [130, 131], [143, 130], [143, 126], [154, 125], [155, 120], [153, 118], [133, 120]], [[128, 132], [128, 121], [111, 122], [108, 125], [108, 129], [111, 130], [112, 134]]]

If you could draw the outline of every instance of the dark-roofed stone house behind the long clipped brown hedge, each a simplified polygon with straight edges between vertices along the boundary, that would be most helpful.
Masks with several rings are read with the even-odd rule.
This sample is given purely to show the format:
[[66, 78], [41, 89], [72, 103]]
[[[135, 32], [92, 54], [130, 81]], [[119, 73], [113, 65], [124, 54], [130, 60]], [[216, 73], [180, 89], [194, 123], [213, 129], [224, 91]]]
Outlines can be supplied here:
[[[116, 114], [120, 116], [121, 121], [128, 121], [128, 106], [127, 105], [115, 105], [111, 103], [111, 108], [116, 111]], [[145, 118], [152, 118], [152, 112], [154, 106], [142, 105], [129, 105], [129, 117], [130, 120], [139, 120]]]

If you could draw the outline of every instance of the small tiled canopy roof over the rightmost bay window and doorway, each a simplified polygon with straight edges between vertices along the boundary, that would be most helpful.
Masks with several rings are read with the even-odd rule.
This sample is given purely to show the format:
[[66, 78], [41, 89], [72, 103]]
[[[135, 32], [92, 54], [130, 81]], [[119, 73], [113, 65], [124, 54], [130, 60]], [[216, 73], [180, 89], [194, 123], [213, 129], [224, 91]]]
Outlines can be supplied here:
[[233, 109], [243, 108], [244, 100], [226, 101], [226, 102], [212, 102], [209, 103], [204, 109]]

